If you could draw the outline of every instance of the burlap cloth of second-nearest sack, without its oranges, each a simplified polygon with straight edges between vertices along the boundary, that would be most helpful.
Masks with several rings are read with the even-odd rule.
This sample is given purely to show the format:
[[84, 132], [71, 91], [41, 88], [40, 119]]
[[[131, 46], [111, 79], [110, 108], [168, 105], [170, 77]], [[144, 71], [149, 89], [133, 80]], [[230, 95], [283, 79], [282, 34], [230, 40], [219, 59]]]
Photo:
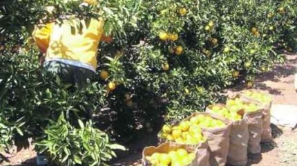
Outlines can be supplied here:
[[[158, 134], [159, 137], [159, 144], [164, 144], [165, 142], [169, 142], [168, 140], [161, 138], [160, 134]], [[209, 143], [208, 141], [200, 142], [198, 145], [186, 145], [186, 144], [180, 144], [177, 142], [169, 142], [170, 145], [173, 145], [175, 147], [186, 147], [186, 149], [195, 149], [196, 150], [196, 158], [198, 160], [199, 166], [210, 166], [209, 165]]]

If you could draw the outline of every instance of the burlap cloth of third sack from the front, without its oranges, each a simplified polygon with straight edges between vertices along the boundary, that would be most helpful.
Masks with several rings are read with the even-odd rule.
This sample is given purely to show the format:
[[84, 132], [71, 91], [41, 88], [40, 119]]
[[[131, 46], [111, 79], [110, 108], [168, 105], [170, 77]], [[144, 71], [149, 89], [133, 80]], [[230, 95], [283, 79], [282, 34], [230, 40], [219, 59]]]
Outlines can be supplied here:
[[217, 116], [213, 113], [193, 113], [192, 116], [189, 116], [185, 120], [190, 120], [193, 116], [198, 115], [210, 116], [211, 118], [222, 120], [226, 127], [216, 128], [216, 129], [208, 129], [202, 128], [202, 133], [207, 137], [209, 143], [209, 164], [211, 166], [224, 166], [227, 162], [227, 155], [229, 150], [229, 133], [231, 129], [231, 122], [226, 118], [222, 118], [221, 116]]

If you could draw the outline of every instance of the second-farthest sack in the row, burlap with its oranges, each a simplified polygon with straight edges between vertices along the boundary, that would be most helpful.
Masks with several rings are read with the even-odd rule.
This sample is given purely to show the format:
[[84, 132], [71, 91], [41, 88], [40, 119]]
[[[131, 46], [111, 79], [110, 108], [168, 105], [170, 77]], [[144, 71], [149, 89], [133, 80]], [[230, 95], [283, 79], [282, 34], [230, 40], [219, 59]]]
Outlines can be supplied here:
[[243, 111], [247, 117], [247, 125], [249, 129], [249, 142], [247, 151], [249, 154], [259, 154], [261, 151], [261, 136], [262, 136], [262, 106], [248, 100], [242, 100], [240, 95], [235, 98], [229, 98], [226, 102], [226, 107], [230, 111]]

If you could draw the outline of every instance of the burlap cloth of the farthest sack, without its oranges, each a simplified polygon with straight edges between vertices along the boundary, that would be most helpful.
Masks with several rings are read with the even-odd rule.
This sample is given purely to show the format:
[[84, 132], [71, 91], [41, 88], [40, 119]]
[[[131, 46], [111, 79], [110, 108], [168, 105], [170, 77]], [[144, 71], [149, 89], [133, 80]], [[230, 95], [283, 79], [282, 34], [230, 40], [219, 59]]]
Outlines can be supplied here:
[[[251, 90], [247, 90], [247, 91], [252, 91], [252, 92], [260, 92], [260, 93], [266, 93], [266, 95], [269, 95], [269, 93], [267, 91], [260, 91], [260, 90], [256, 90], [256, 89], [251, 89]], [[261, 142], [269, 142], [272, 139], [272, 135], [271, 135], [271, 105], [272, 105], [272, 101], [265, 104], [262, 103], [260, 101], [254, 100], [253, 98], [249, 98], [247, 95], [244, 94], [245, 91], [242, 91], [240, 93], [240, 98], [242, 100], [248, 100], [251, 103], [260, 105], [263, 109], [262, 109], [262, 123], [263, 123], [263, 132], [261, 135]]]

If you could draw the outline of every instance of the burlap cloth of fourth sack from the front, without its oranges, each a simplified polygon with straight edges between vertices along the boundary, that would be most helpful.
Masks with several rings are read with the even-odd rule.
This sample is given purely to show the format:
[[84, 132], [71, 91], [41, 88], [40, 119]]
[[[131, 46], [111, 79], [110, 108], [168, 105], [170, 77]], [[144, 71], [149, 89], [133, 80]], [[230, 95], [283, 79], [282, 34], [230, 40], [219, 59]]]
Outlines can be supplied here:
[[[217, 104], [215, 104], [217, 105]], [[224, 104], [218, 104], [225, 107]], [[207, 112], [213, 113], [211, 108], [207, 107]], [[229, 134], [230, 145], [227, 156], [227, 165], [247, 165], [247, 144], [249, 142], [249, 129], [247, 125], [247, 117], [242, 120], [232, 121]]]

